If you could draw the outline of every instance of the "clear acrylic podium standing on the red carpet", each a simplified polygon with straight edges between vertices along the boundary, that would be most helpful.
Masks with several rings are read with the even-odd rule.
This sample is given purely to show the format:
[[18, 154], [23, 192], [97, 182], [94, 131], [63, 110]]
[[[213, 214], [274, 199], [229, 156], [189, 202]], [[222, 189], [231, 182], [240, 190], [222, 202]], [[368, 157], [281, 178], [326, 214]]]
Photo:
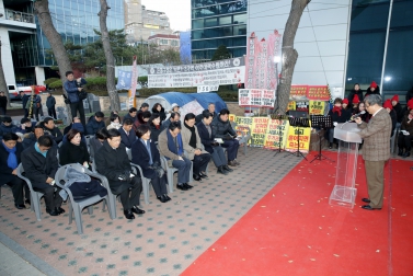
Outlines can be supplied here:
[[356, 123], [339, 124], [334, 128], [334, 138], [339, 140], [339, 153], [335, 185], [330, 195], [330, 205], [354, 207], [357, 194], [354, 184], [357, 174], [358, 143], [362, 143], [358, 131]]

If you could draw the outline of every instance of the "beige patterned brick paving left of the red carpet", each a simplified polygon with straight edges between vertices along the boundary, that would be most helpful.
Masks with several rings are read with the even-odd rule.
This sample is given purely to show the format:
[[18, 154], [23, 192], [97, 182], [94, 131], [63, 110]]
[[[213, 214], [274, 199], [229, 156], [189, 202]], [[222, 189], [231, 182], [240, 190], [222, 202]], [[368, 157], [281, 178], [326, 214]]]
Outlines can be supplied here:
[[[179, 275], [301, 158], [250, 148], [239, 161], [241, 166], [227, 176], [218, 175], [211, 164], [208, 180], [192, 191], [175, 191], [167, 204], [156, 200], [151, 191], [150, 204], [144, 205], [147, 212], [135, 220], [122, 216], [121, 204], [115, 220], [96, 205], [92, 216], [83, 214], [82, 235], [74, 222], [68, 225], [67, 214], [50, 217], [43, 204], [39, 222], [30, 209], [15, 209], [10, 188], [2, 187], [1, 260], [19, 265], [1, 266], [0, 275], [27, 269], [31, 275]], [[62, 207], [68, 209], [67, 204]]]

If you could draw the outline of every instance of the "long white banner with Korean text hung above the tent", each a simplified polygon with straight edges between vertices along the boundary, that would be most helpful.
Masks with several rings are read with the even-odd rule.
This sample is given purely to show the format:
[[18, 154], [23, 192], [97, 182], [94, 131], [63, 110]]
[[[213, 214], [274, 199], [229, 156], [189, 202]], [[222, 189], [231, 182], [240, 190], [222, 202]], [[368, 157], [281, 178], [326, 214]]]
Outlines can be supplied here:
[[244, 58], [196, 65], [152, 67], [148, 71], [148, 88], [219, 87], [243, 83], [244, 77]]

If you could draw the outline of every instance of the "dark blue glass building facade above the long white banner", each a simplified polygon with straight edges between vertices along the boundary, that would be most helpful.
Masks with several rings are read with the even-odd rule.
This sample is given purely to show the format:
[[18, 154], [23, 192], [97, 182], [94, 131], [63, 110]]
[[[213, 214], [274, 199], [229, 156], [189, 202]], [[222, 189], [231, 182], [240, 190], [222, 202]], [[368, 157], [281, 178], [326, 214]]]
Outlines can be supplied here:
[[[250, 0], [251, 1], [251, 0]], [[246, 0], [192, 0], [192, 59], [210, 60], [220, 45], [232, 57], [246, 53]]]

